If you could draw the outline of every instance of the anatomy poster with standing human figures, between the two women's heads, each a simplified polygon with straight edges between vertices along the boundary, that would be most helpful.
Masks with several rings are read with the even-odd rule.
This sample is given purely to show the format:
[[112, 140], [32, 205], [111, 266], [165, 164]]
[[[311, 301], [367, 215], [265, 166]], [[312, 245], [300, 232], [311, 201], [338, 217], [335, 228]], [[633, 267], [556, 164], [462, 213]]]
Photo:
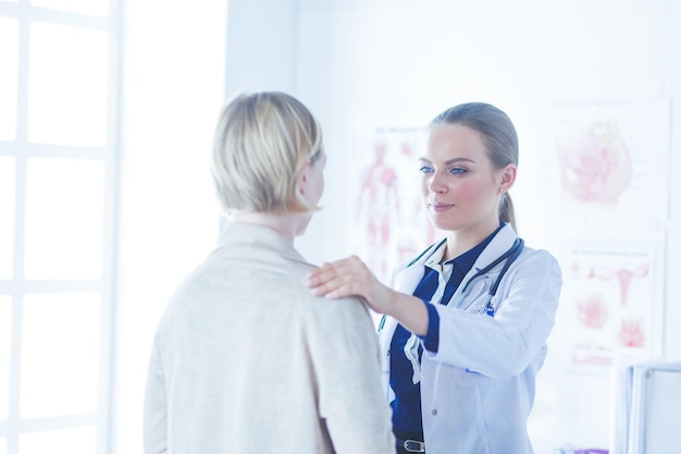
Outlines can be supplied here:
[[350, 247], [383, 282], [434, 241], [418, 172], [424, 130], [367, 127], [352, 138]]

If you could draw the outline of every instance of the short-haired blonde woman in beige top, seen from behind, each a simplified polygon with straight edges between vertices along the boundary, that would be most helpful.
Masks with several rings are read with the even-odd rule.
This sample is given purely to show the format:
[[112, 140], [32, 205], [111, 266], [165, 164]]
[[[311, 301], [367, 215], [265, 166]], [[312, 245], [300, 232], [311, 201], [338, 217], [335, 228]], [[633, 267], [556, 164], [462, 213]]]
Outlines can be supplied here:
[[282, 93], [222, 111], [212, 174], [231, 220], [160, 320], [145, 453], [394, 450], [367, 307], [310, 295], [294, 247], [324, 191], [318, 121]]

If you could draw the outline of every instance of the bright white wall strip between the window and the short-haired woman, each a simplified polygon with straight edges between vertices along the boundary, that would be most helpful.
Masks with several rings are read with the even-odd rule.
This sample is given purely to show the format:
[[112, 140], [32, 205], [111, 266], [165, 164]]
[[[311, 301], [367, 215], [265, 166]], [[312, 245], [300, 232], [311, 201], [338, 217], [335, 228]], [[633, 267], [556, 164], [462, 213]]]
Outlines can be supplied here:
[[209, 156], [223, 101], [226, 5], [135, 0], [124, 11], [112, 453], [141, 453], [158, 318], [212, 248]]

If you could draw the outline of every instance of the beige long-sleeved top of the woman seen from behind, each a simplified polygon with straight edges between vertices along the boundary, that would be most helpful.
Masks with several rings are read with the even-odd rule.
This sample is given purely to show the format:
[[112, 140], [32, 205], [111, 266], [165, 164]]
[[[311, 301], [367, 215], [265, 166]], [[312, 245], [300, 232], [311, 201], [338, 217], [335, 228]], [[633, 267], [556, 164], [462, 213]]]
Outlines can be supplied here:
[[230, 224], [159, 322], [145, 453], [394, 453], [371, 316], [314, 297], [276, 232]]

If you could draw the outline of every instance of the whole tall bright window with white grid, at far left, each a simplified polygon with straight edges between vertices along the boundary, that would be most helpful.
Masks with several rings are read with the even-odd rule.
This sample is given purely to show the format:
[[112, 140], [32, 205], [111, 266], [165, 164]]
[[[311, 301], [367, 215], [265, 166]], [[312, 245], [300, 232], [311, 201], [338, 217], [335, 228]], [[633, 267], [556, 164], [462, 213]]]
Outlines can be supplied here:
[[119, 29], [0, 0], [0, 454], [108, 449]]

